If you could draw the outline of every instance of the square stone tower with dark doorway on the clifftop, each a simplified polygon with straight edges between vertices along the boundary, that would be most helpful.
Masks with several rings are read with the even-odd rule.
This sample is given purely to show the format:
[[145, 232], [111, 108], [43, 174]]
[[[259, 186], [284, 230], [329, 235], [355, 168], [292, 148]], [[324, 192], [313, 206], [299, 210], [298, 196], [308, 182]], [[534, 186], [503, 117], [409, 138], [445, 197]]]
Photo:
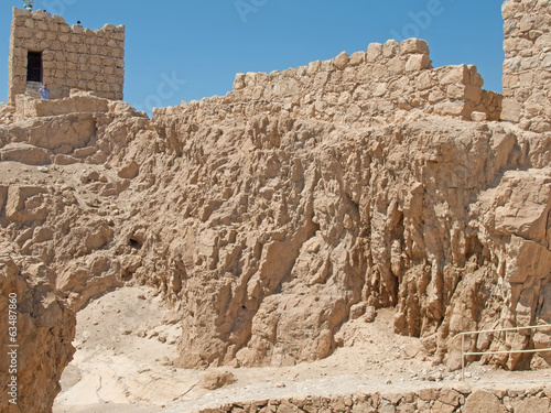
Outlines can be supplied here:
[[125, 26], [99, 30], [69, 26], [58, 15], [13, 8], [10, 42], [9, 100], [28, 89], [28, 53], [42, 52], [42, 81], [52, 98], [72, 88], [121, 100], [125, 84]]

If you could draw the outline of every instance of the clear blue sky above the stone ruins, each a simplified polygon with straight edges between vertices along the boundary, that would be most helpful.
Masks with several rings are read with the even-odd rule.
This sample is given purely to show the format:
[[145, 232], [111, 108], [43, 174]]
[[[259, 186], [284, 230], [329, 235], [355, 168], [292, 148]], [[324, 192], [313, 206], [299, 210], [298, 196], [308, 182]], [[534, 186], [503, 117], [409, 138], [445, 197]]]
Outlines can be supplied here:
[[[420, 37], [433, 66], [475, 64], [501, 91], [501, 0], [35, 0], [85, 28], [125, 24], [125, 100], [141, 110], [225, 95], [235, 74], [328, 59]], [[11, 8], [0, 4], [0, 101], [8, 96]]]

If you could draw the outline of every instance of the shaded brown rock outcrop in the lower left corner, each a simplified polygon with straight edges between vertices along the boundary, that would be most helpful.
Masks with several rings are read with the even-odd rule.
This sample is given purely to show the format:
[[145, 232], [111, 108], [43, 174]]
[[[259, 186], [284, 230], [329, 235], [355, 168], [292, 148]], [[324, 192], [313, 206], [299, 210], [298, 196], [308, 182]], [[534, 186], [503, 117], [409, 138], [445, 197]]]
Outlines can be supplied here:
[[56, 296], [54, 278], [42, 262], [21, 257], [15, 247], [0, 241], [0, 312], [4, 315], [0, 403], [6, 412], [51, 412], [62, 371], [75, 351], [71, 344], [75, 314]]

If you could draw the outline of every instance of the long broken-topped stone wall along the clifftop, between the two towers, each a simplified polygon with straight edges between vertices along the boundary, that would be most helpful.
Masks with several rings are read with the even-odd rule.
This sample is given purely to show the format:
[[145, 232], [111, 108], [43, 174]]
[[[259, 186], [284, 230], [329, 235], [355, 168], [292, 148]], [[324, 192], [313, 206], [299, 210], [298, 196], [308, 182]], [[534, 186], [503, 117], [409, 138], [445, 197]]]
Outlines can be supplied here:
[[[498, 120], [501, 95], [483, 90], [474, 65], [433, 68], [426, 42], [408, 39], [370, 44], [352, 56], [343, 52], [325, 62], [284, 72], [238, 74], [225, 97], [183, 104], [195, 120], [222, 110], [252, 116], [285, 110], [352, 127], [366, 127], [399, 111]], [[168, 109], [170, 112], [173, 109]], [[176, 109], [177, 110], [177, 109]], [[155, 113], [166, 112], [165, 109]]]

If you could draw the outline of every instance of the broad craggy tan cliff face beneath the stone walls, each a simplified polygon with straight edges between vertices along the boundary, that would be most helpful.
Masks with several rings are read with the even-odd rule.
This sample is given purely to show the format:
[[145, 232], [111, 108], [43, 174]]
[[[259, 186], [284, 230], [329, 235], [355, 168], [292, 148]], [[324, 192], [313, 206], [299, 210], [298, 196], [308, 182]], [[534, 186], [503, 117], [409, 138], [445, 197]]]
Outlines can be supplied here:
[[456, 333], [547, 319], [547, 135], [411, 111], [352, 128], [272, 109], [207, 99], [153, 122], [94, 112], [91, 140], [65, 154], [28, 141], [53, 170], [2, 186], [6, 232], [52, 267], [74, 309], [125, 282], [155, 285], [180, 307], [185, 367], [323, 358], [357, 304], [395, 306], [396, 332], [450, 367]]

